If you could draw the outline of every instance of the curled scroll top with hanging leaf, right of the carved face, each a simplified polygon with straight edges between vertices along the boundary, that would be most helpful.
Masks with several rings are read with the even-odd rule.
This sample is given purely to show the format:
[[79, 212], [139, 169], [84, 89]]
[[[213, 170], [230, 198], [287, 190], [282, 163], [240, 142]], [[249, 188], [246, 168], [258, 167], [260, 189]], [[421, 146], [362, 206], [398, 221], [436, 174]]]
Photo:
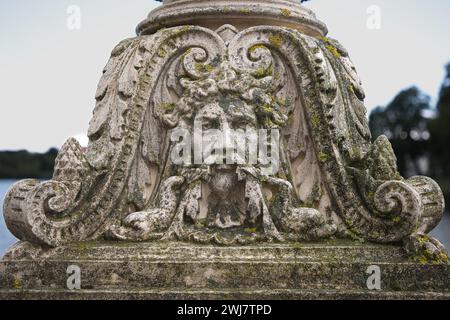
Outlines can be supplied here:
[[[300, 61], [294, 62], [290, 57], [294, 54], [294, 48], [286, 39], [291, 36], [286, 30], [274, 27], [245, 30], [231, 41], [230, 60], [236, 70], [259, 77], [262, 74], [270, 76], [271, 94], [281, 101], [280, 111], [288, 118], [280, 129], [286, 146], [290, 183], [300, 203], [326, 213], [331, 211], [329, 195], [323, 184], [310, 121], [304, 108], [301, 81], [295, 67], [292, 67]], [[319, 125], [318, 122], [315, 124]]]

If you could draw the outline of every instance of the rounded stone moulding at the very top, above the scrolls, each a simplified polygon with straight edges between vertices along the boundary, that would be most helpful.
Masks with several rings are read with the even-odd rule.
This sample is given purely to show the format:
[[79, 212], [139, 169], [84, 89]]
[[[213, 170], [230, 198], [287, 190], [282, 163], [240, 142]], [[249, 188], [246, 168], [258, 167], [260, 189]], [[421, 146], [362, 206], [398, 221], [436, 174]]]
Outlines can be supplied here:
[[326, 25], [297, 0], [166, 0], [137, 27], [139, 35], [161, 28], [195, 24], [211, 30], [224, 22], [240, 30], [255, 25], [290, 27], [303, 33], [325, 36]]

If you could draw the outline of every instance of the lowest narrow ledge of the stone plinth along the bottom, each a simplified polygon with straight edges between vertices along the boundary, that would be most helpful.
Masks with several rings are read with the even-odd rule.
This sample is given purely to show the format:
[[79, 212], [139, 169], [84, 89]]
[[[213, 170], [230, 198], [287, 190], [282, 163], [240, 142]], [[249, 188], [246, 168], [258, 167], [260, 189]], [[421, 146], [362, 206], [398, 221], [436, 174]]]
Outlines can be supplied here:
[[2, 300], [449, 300], [450, 292], [333, 290], [0, 290]]

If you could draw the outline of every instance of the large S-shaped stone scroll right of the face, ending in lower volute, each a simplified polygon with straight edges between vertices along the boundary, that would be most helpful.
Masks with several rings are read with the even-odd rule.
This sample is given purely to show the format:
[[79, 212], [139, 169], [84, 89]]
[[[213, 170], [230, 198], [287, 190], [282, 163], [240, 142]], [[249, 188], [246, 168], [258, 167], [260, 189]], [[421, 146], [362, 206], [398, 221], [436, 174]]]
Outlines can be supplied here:
[[[251, 56], [247, 53], [252, 46], [262, 49]], [[334, 204], [331, 209], [341, 225], [349, 233], [375, 242], [401, 241], [424, 224], [430, 229], [429, 224], [442, 215], [442, 201], [434, 201], [427, 209], [423, 191], [413, 183], [386, 180], [375, 185], [368, 204], [347, 170], [355, 161], [370, 163], [372, 144], [362, 103], [364, 92], [346, 51], [336, 42], [294, 30], [255, 27], [230, 43], [229, 54], [240, 68], [255, 68], [258, 63], [265, 67], [268, 52], [264, 48], [278, 52], [296, 79], [315, 157]], [[439, 189], [419, 180], [425, 189]], [[427, 223], [424, 216], [428, 216]]]

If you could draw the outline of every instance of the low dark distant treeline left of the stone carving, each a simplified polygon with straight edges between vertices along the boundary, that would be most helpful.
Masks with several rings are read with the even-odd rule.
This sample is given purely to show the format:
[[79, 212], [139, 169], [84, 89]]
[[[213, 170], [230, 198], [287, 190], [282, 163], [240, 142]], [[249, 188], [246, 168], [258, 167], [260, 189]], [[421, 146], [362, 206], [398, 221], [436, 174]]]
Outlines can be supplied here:
[[58, 155], [57, 149], [46, 153], [28, 151], [0, 152], [0, 179], [49, 179], [53, 175], [53, 165]]

